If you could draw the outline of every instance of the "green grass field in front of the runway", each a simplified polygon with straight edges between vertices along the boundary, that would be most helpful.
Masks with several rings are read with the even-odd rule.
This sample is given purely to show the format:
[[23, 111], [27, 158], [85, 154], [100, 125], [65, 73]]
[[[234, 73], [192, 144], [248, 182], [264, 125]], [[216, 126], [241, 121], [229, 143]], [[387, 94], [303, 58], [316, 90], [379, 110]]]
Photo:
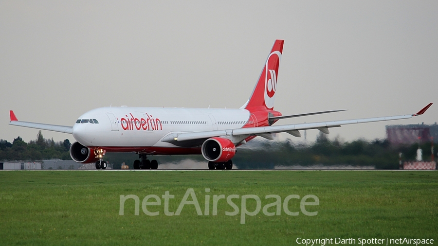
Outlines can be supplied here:
[[[398, 171], [2, 171], [0, 172], [1, 245], [297, 245], [296, 238], [419, 238], [438, 243], [438, 172]], [[159, 211], [146, 215], [146, 195], [160, 198], [169, 191], [169, 211], [177, 211], [187, 189], [193, 188], [204, 214], [185, 205], [180, 215]], [[210, 192], [205, 191], [206, 188]], [[139, 197], [125, 202], [119, 215], [120, 195]], [[233, 211], [226, 199], [212, 215], [213, 195], [260, 197], [261, 208], [281, 197], [281, 215], [256, 216]], [[318, 206], [305, 208], [291, 199], [288, 215], [283, 200], [291, 194], [319, 198]], [[189, 196], [188, 201], [192, 198]], [[149, 199], [149, 202], [155, 201]], [[307, 200], [314, 201], [313, 199]], [[247, 199], [248, 211], [256, 210]], [[271, 207], [268, 212], [276, 211]], [[334, 243], [334, 241], [333, 241]], [[356, 244], [358, 242], [356, 241]]]

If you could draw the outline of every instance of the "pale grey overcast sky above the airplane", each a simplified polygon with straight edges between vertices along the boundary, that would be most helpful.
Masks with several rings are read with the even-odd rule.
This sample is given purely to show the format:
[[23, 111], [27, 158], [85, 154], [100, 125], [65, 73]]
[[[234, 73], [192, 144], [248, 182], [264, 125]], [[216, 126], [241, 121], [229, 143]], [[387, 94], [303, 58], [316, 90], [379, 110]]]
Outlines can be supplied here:
[[[8, 125], [9, 110], [73, 125], [110, 105], [238, 108], [275, 39], [285, 40], [275, 110], [348, 109], [276, 124], [413, 114], [431, 102], [423, 116], [331, 128], [329, 137], [383, 139], [387, 124], [438, 122], [436, 0], [0, 0], [0, 139], [37, 138]], [[307, 131], [308, 141], [317, 134]]]

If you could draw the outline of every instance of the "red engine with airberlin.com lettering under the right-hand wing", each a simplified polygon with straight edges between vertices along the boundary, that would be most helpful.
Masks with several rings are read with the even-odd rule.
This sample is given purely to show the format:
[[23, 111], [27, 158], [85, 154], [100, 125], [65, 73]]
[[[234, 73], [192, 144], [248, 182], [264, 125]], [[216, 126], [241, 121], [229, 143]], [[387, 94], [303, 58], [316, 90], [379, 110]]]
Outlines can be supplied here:
[[202, 144], [202, 156], [213, 162], [224, 162], [234, 157], [236, 146], [229, 139], [210, 138]]

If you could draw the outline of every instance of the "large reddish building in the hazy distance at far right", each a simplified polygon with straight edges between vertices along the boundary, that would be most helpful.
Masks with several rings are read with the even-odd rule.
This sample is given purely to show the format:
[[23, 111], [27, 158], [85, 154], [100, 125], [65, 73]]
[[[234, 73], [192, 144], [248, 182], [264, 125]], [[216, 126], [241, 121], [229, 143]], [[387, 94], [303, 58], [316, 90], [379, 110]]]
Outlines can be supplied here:
[[438, 142], [438, 124], [387, 125], [386, 139], [392, 145], [412, 144], [419, 141], [429, 142], [431, 138]]

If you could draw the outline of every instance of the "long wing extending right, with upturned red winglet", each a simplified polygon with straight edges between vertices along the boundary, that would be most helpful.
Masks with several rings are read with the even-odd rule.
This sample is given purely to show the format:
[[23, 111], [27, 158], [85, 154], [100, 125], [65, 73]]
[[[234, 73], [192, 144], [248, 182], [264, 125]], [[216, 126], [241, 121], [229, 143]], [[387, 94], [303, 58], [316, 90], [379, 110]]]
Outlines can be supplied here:
[[432, 103], [423, 107], [416, 114], [398, 115], [398, 116], [386, 116], [377, 118], [344, 120], [344, 121], [331, 121], [331, 122], [317, 122], [317, 123], [301, 123], [301, 124], [288, 124], [277, 126], [264, 126], [264, 127], [249, 127], [239, 129], [229, 129], [220, 131], [207, 131], [207, 132], [187, 132], [187, 133], [173, 133], [162, 141], [175, 142], [175, 141], [187, 141], [196, 139], [206, 139], [220, 136], [239, 136], [239, 135], [260, 135], [265, 138], [269, 138], [271, 133], [287, 132], [295, 137], [301, 137], [299, 130], [318, 129], [326, 134], [329, 134], [330, 127], [339, 127], [347, 124], [368, 123], [368, 122], [380, 122], [380, 121], [393, 121], [409, 119], [414, 116], [422, 115], [432, 105]]

